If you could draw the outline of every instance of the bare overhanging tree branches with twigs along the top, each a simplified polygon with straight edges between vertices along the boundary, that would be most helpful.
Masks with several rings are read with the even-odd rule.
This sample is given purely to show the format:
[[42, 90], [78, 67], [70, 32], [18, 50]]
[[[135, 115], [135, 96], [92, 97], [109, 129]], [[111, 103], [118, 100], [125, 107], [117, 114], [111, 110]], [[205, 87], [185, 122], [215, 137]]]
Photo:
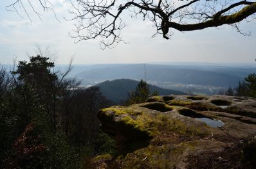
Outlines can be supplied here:
[[[28, 0], [30, 2], [30, 0]], [[37, 0], [44, 10], [53, 10], [49, 1]], [[41, 14], [33, 8], [39, 18]], [[255, 1], [236, 0], [191, 0], [191, 1], [170, 1], [170, 0], [77, 0], [71, 1], [72, 9], [69, 10], [71, 17], [68, 20], [76, 20], [75, 33], [72, 36], [80, 40], [102, 38], [102, 47], [113, 47], [118, 42], [122, 42], [121, 30], [125, 27], [123, 22], [124, 13], [129, 13], [131, 17], [142, 17], [143, 20], [150, 20], [157, 34], [169, 39], [178, 31], [194, 31], [222, 25], [233, 26], [242, 35], [239, 29], [239, 22], [255, 19]], [[7, 10], [17, 11], [21, 6], [29, 17], [29, 13], [24, 8], [21, 0], [16, 0]], [[29, 17], [30, 18], [30, 17]]]

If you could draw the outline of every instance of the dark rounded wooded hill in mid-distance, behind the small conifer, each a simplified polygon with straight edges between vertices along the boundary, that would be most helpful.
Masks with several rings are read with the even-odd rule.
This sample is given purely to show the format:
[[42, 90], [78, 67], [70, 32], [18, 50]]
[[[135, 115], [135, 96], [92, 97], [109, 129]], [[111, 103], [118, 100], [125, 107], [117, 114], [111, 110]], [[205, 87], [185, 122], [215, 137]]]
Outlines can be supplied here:
[[[119, 103], [127, 99], [128, 93], [135, 90], [138, 83], [139, 81], [131, 79], [116, 79], [113, 81], [104, 81], [96, 86], [100, 87], [100, 91], [105, 95], [105, 97], [107, 97], [107, 99]], [[149, 90], [151, 92], [158, 91], [159, 95], [185, 94], [177, 90], [169, 90], [154, 85], [149, 85]]]

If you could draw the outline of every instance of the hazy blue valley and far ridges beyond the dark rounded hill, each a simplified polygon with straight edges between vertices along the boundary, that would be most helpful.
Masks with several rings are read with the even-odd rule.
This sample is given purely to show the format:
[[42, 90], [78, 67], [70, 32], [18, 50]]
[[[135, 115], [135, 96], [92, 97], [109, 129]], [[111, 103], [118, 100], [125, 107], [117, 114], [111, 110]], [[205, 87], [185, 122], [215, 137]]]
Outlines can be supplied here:
[[[183, 93], [214, 95], [234, 88], [244, 77], [255, 72], [256, 65], [216, 65], [214, 63], [102, 64], [74, 65], [71, 76], [82, 86], [94, 86], [115, 79], [144, 79], [161, 88]], [[102, 84], [103, 85], [103, 84]], [[122, 87], [122, 86], [120, 86]], [[128, 92], [128, 91], [127, 91]]]

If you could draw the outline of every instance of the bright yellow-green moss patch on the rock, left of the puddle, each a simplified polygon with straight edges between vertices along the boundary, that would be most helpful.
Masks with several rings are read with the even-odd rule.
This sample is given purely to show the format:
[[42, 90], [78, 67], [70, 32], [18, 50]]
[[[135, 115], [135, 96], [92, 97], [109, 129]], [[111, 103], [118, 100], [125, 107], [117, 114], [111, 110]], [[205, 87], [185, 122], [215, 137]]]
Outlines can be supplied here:
[[[156, 102], [154, 102], [156, 103]], [[146, 104], [149, 105], [149, 104]], [[152, 105], [152, 104], [150, 104]], [[154, 105], [154, 104], [153, 104]], [[161, 103], [162, 106], [168, 106]], [[168, 106], [169, 109], [173, 109], [173, 106]], [[184, 108], [178, 111], [183, 111]], [[188, 135], [201, 135], [204, 133], [197, 127], [188, 126], [185, 122], [181, 120], [169, 118], [167, 115], [163, 114], [151, 114], [151, 113], [138, 113], [137, 117], [134, 118], [134, 112], [131, 109], [115, 109], [107, 108], [103, 109], [103, 112], [107, 113], [107, 116], [112, 115], [113, 117], [120, 117], [120, 122], [122, 126], [126, 126], [130, 134], [148, 134], [149, 137], [154, 137], [164, 131], [174, 131], [175, 133], [188, 134]], [[192, 110], [191, 110], [192, 111]], [[193, 111], [194, 112], [194, 111]], [[111, 121], [111, 120], [110, 120]], [[138, 132], [140, 131], [140, 132]], [[124, 134], [124, 133], [123, 133]], [[137, 136], [134, 136], [136, 138]]]

